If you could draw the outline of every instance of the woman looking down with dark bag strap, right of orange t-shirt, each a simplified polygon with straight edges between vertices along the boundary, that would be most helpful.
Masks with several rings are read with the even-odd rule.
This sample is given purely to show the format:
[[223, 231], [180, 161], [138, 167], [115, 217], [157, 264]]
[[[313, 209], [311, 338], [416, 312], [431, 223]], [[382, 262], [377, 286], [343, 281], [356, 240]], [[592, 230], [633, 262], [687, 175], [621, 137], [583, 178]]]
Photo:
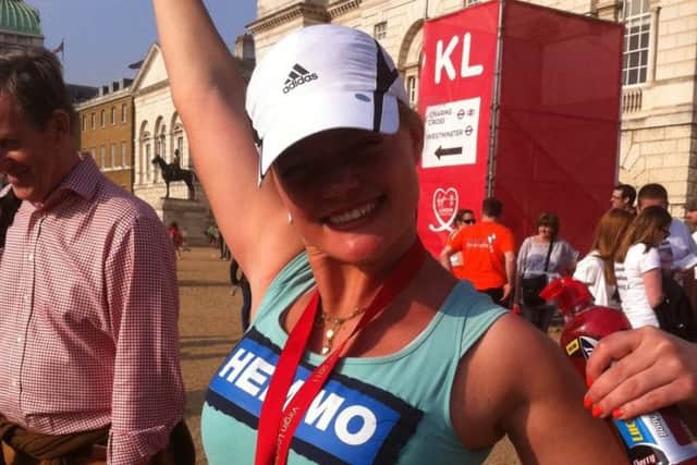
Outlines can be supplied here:
[[572, 274], [578, 258], [578, 252], [560, 238], [560, 227], [557, 213], [540, 213], [537, 234], [523, 241], [517, 258], [514, 311], [519, 311], [523, 318], [545, 333], [557, 305], [539, 297], [539, 291], [552, 279]]

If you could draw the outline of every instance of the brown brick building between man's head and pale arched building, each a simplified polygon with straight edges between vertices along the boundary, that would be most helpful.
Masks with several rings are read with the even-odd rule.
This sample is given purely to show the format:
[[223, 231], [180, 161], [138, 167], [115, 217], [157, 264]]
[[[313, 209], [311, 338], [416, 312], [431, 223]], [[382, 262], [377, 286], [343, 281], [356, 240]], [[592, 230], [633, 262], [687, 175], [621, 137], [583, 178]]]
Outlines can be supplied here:
[[133, 192], [133, 97], [131, 79], [102, 86], [76, 106], [80, 149], [91, 154], [105, 175]]

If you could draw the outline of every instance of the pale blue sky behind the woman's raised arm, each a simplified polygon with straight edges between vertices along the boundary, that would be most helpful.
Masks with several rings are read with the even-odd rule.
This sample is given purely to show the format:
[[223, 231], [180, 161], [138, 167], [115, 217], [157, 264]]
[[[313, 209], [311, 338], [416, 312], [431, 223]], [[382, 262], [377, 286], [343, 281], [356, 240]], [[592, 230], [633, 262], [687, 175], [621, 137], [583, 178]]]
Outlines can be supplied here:
[[[45, 45], [65, 38], [65, 81], [98, 86], [133, 77], [129, 64], [142, 60], [156, 40], [149, 0], [25, 0], [39, 10]], [[256, 16], [254, 0], [206, 0], [228, 46]]]

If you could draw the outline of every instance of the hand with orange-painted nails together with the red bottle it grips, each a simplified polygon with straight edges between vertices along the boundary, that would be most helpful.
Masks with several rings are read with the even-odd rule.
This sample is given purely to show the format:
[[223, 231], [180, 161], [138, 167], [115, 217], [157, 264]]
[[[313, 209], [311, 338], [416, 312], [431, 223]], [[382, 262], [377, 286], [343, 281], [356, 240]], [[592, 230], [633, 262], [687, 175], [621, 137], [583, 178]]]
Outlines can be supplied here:
[[622, 311], [596, 306], [580, 281], [561, 278], [542, 290], [564, 314], [561, 347], [591, 389], [584, 405], [613, 417], [632, 464], [697, 465], [695, 412], [697, 351], [656, 328], [629, 329]]

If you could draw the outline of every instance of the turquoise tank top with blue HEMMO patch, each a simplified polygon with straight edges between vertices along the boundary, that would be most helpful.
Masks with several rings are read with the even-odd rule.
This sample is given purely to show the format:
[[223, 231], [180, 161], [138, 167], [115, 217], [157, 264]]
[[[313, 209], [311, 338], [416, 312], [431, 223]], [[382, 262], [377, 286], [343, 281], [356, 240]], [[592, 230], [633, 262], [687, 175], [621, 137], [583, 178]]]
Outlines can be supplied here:
[[[291, 260], [269, 286], [254, 325], [217, 370], [201, 414], [211, 465], [253, 464], [256, 428], [288, 334], [280, 316], [314, 286], [307, 256]], [[289, 465], [478, 464], [453, 431], [450, 397], [462, 356], [506, 310], [461, 281], [408, 345], [337, 366], [298, 425]], [[323, 357], [306, 353], [290, 393]]]

